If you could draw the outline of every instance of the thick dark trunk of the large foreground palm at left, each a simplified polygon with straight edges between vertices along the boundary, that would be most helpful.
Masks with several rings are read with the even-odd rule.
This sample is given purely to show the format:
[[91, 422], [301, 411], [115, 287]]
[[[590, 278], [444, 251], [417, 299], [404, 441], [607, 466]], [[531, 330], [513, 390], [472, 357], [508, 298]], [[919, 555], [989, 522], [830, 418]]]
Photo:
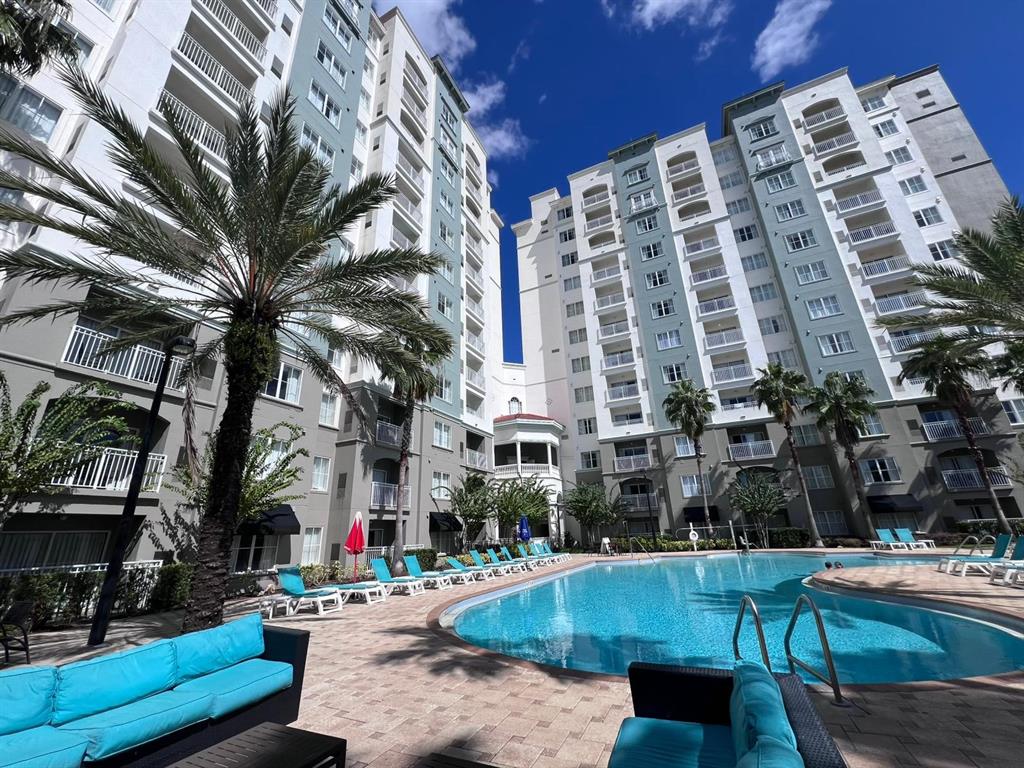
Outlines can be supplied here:
[[224, 618], [231, 542], [239, 526], [242, 475], [252, 440], [253, 409], [278, 359], [273, 331], [234, 323], [225, 342], [227, 399], [217, 427], [207, 494], [196, 543], [196, 567], [185, 604], [183, 632], [216, 627]]

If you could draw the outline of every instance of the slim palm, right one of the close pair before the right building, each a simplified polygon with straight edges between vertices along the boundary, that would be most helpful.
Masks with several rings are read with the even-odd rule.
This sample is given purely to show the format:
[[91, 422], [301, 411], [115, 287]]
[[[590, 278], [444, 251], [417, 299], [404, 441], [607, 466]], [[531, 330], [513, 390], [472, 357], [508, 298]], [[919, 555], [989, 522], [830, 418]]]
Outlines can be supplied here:
[[817, 416], [817, 427], [821, 431], [836, 435], [836, 441], [843, 447], [843, 455], [850, 467], [853, 486], [857, 493], [857, 504], [870, 539], [878, 539], [871, 513], [864, 490], [864, 478], [860, 465], [853, 453], [860, 442], [860, 434], [865, 430], [864, 417], [878, 412], [871, 397], [874, 390], [860, 376], [844, 376], [833, 371], [825, 376], [820, 387], [812, 387], [807, 392], [809, 402], [804, 412]]

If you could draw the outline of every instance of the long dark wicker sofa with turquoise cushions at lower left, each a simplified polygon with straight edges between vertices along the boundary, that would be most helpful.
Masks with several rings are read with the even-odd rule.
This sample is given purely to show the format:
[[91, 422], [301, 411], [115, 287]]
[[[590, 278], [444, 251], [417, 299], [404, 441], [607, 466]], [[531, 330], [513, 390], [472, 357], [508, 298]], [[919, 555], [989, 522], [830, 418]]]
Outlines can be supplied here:
[[309, 633], [259, 613], [61, 667], [0, 672], [3, 768], [161, 768], [299, 713]]

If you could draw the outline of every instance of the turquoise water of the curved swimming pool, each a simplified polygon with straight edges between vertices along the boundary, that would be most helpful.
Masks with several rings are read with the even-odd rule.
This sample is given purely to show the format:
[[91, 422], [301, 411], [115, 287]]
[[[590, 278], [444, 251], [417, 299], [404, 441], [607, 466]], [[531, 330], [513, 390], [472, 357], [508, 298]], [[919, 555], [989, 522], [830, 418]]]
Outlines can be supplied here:
[[[731, 669], [732, 628], [749, 594], [761, 610], [772, 666], [783, 670], [782, 637], [794, 601], [810, 592], [843, 682], [949, 680], [1024, 669], [1024, 639], [1015, 633], [808, 590], [802, 580], [823, 569], [825, 559], [725, 555], [603, 563], [465, 609], [455, 606], [454, 630], [475, 645], [573, 670], [625, 675], [633, 660]], [[879, 564], [871, 555], [839, 559], [846, 567]], [[823, 669], [813, 624], [809, 614], [801, 618], [794, 651]], [[753, 627], [745, 628], [740, 650], [745, 658], [759, 657]]]

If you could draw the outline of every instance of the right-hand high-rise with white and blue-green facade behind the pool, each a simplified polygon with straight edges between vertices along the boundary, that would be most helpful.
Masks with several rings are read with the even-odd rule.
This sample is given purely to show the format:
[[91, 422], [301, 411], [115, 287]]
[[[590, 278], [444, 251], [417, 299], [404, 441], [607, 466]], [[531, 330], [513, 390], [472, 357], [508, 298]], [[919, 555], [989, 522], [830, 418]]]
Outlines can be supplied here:
[[[525, 406], [550, 403], [566, 425], [565, 471], [622, 493], [632, 531], [702, 522], [702, 487], [713, 520], [738, 520], [726, 496], [737, 473], [790, 465], [782, 428], [751, 391], [775, 361], [814, 384], [838, 371], [874, 390], [857, 462], [877, 524], [991, 517], [952, 412], [898, 381], [911, 346], [937, 333], [911, 267], [954, 261], [953, 232], [987, 226], [1007, 195], [937, 68], [772, 85], [725, 104], [722, 120], [717, 140], [698, 125], [612, 150], [571, 174], [567, 195], [532, 197], [513, 227]], [[912, 312], [916, 330], [876, 324]], [[703, 477], [663, 408], [682, 379], [717, 400]], [[1024, 399], [985, 380], [975, 404], [989, 476], [1019, 515], [1006, 466], [1024, 458]], [[819, 528], [858, 532], [847, 462], [809, 418], [796, 432]], [[791, 521], [805, 510], [792, 502]]]

